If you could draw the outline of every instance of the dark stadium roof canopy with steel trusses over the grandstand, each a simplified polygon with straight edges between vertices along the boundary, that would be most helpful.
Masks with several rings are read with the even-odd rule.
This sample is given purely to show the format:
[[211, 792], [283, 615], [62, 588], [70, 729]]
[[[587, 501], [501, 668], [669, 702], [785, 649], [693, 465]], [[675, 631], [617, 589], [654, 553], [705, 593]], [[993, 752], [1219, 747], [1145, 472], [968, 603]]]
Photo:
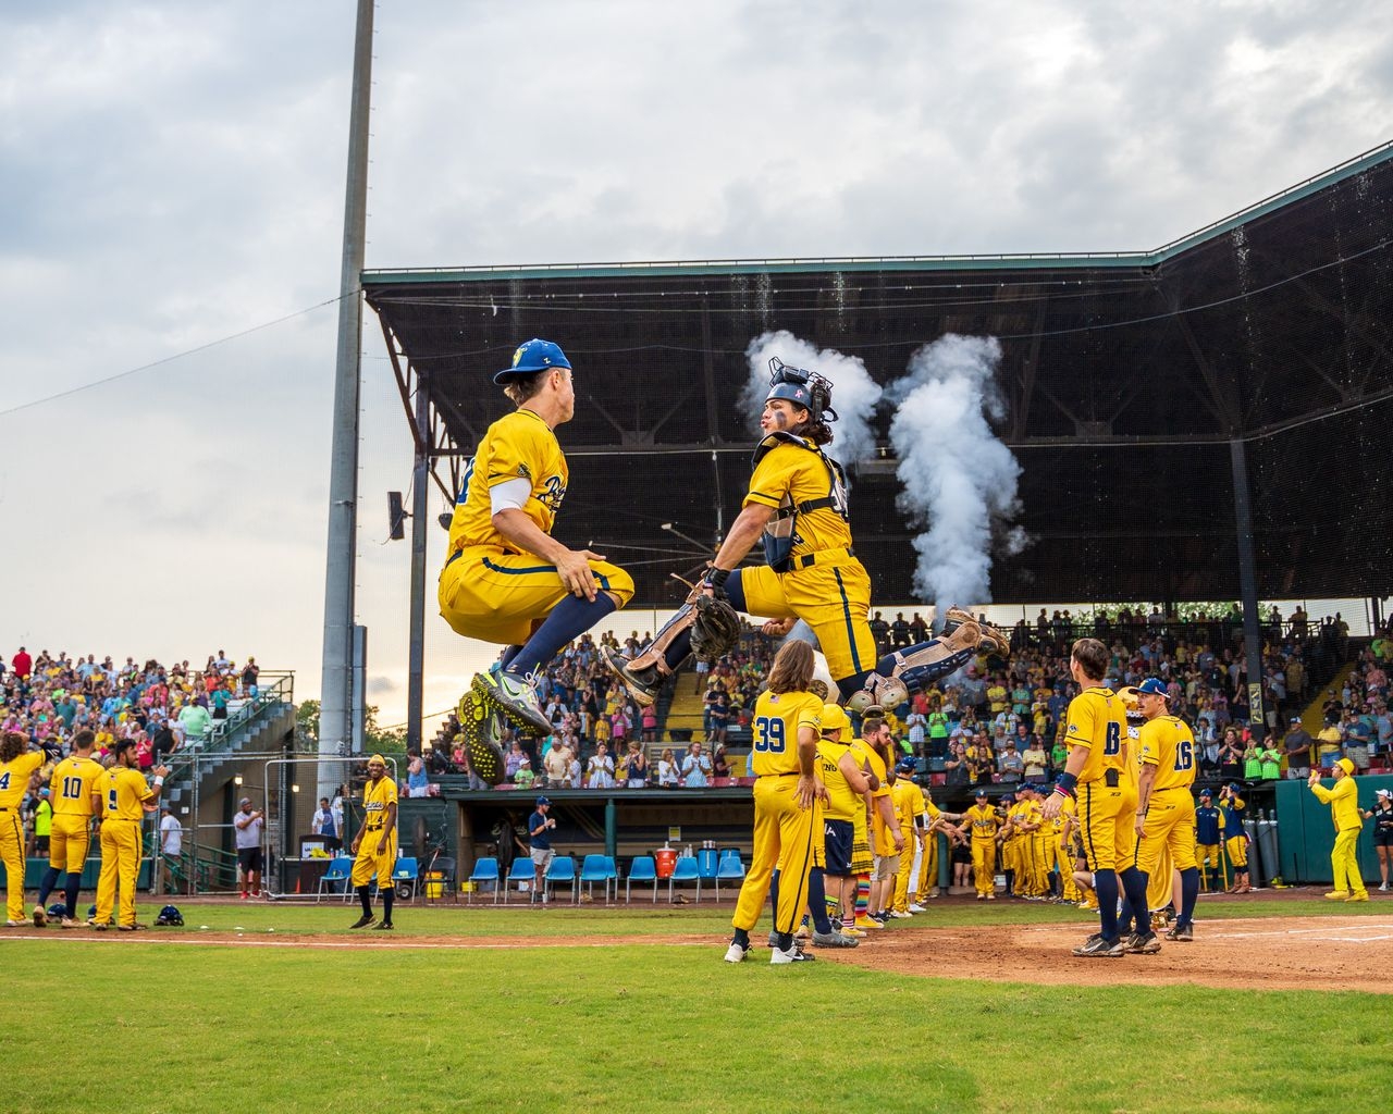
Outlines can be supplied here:
[[[1262, 597], [1393, 586], [1393, 143], [1151, 252], [708, 260], [362, 276], [408, 416], [429, 401], [443, 489], [508, 409], [490, 382], [543, 336], [577, 366], [557, 535], [670, 603], [729, 525], [752, 436], [737, 397], [770, 330], [859, 356], [886, 384], [946, 333], [995, 336], [1031, 544], [996, 602], [1238, 596], [1233, 447]], [[876, 599], [912, 599], [892, 411], [855, 469]], [[664, 526], [667, 524], [671, 529]], [[628, 549], [620, 549], [618, 546]], [[632, 560], [631, 560], [632, 558]], [[964, 602], [967, 603], [967, 602]]]

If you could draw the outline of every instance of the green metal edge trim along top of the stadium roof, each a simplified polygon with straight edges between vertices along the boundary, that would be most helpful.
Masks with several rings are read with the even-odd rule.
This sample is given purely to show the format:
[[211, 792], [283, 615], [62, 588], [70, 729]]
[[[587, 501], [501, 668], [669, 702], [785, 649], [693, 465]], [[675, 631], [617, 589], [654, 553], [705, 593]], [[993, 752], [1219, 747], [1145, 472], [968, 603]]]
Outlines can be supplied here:
[[1208, 240], [1268, 216], [1293, 202], [1308, 198], [1348, 177], [1393, 159], [1393, 141], [1348, 159], [1321, 174], [1273, 194], [1223, 220], [1206, 224], [1188, 235], [1149, 252], [1096, 253], [1022, 253], [1022, 255], [900, 255], [900, 256], [829, 256], [795, 259], [701, 259], [635, 263], [529, 263], [510, 266], [464, 267], [382, 267], [364, 270], [365, 287], [412, 285], [419, 283], [482, 283], [520, 278], [618, 278], [652, 274], [660, 278], [703, 274], [805, 274], [811, 272], [924, 272], [924, 270], [1046, 270], [1098, 267], [1153, 267]]

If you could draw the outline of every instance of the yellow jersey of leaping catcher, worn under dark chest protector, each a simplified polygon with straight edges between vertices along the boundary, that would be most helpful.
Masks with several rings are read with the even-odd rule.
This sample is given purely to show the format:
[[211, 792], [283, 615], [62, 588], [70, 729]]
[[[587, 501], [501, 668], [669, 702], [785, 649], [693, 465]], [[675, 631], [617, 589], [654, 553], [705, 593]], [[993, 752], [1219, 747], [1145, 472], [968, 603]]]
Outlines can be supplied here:
[[[770, 434], [761, 441], [755, 455], [758, 462], [742, 505], [759, 503], [777, 511], [816, 500], [833, 501], [830, 507], [797, 515], [791, 557], [851, 546], [846, 485], [812, 441], [791, 434]], [[783, 522], [791, 524], [793, 519]]]

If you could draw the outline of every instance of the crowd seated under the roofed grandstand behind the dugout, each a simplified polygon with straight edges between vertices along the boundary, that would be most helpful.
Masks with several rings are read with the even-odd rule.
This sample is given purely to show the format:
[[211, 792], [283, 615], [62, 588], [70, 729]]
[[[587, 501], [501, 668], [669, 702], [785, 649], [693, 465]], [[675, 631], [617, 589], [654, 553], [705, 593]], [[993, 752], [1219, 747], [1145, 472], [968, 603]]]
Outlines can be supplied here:
[[[917, 613], [887, 621], [875, 613], [871, 628], [885, 653], [922, 641], [928, 622]], [[1191, 614], [1184, 621], [1159, 607], [1123, 609], [1074, 617], [1043, 609], [1034, 624], [1021, 620], [1011, 632], [1010, 661], [979, 659], [961, 674], [922, 693], [890, 714], [905, 753], [924, 759], [935, 784], [1048, 783], [1064, 764], [1061, 717], [1077, 695], [1068, 653], [1075, 638], [1095, 636], [1112, 648], [1109, 682], [1134, 685], [1159, 677], [1172, 692], [1170, 706], [1190, 723], [1201, 744], [1201, 777], [1273, 780], [1297, 776], [1284, 735], [1300, 731], [1300, 713], [1344, 660], [1348, 628], [1336, 615], [1312, 622], [1297, 607], [1283, 618], [1273, 607], [1262, 625], [1262, 692], [1266, 731], [1255, 738], [1250, 724], [1248, 661], [1237, 609]], [[646, 636], [645, 636], [646, 638]], [[632, 656], [644, 643], [635, 631], [602, 646]], [[660, 709], [638, 707], [599, 660], [591, 635], [567, 648], [539, 680], [539, 695], [553, 724], [546, 738], [504, 731], [507, 781], [521, 787], [612, 788], [726, 784], [727, 746], [748, 735], [755, 698], [777, 642], [747, 629], [736, 653], [696, 673], [705, 685], [702, 738], [662, 738]], [[1329, 764], [1344, 753], [1365, 770], [1387, 753], [1393, 720], [1385, 703], [1393, 636], [1385, 632], [1364, 650], [1355, 674], [1328, 709], [1332, 723], [1312, 760]], [[685, 684], [685, 681], [683, 682]], [[657, 744], [657, 745], [655, 745]], [[1312, 739], [1318, 748], [1321, 741]], [[1332, 758], [1333, 755], [1333, 758]], [[472, 778], [458, 723], [444, 725], [433, 752], [418, 759], [430, 774], [465, 773]], [[1289, 773], [1290, 770], [1290, 773]]]

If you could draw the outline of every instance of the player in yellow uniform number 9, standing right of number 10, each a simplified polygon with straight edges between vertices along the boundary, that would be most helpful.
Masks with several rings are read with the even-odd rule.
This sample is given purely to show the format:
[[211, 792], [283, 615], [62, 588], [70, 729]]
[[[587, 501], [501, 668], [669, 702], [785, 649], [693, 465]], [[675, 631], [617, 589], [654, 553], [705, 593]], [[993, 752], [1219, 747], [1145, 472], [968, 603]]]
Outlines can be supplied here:
[[135, 919], [135, 883], [141, 873], [141, 820], [164, 785], [163, 766], [155, 767], [152, 787], [135, 764], [135, 741], [116, 744], [116, 764], [92, 784], [92, 803], [102, 810], [102, 873], [96, 880], [92, 927], [104, 932], [120, 898], [116, 927], [143, 929]]

